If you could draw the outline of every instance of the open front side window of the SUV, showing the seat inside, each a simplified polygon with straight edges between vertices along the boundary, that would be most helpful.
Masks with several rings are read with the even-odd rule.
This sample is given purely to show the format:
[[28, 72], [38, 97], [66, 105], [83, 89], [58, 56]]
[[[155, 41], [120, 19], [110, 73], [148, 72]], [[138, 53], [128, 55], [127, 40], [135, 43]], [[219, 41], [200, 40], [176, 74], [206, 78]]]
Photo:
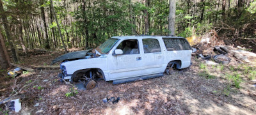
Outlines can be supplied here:
[[124, 40], [121, 42], [116, 49], [123, 50], [123, 55], [127, 54], [140, 54], [138, 47], [138, 40]]

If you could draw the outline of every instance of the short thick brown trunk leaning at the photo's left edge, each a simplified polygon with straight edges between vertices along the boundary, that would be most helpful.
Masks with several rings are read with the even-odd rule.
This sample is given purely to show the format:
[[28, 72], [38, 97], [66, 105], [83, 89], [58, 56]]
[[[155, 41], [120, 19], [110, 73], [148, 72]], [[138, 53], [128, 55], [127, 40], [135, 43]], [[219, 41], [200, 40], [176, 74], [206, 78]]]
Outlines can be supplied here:
[[[1, 27], [0, 27], [0, 31], [1, 31]], [[2, 33], [0, 33], [0, 65], [1, 65], [1, 68], [5, 70], [12, 66], [11, 59], [4, 45], [4, 38]]]

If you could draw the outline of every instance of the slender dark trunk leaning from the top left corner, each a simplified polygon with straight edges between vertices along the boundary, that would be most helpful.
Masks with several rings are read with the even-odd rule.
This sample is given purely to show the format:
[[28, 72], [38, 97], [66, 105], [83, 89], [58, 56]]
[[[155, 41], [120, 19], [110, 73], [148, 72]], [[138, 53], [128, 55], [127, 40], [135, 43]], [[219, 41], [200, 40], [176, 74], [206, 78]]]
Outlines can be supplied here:
[[8, 20], [7, 20], [7, 17], [5, 15], [5, 11], [4, 11], [4, 8], [3, 8], [3, 4], [2, 4], [2, 0], [0, 0], [0, 11], [1, 11], [1, 16], [2, 16], [2, 20], [3, 20], [3, 25], [4, 25], [4, 30], [5, 30], [5, 33], [6, 33], [6, 36], [7, 36], [7, 40], [8, 40], [8, 43], [11, 47], [11, 50], [12, 50], [12, 56], [13, 56], [13, 59], [15, 62], [18, 62], [18, 57], [17, 57], [17, 53], [16, 53], [16, 50], [15, 50], [15, 46], [13, 45], [13, 37], [12, 37], [12, 34], [10, 33], [11, 32], [11, 29], [10, 29], [10, 26], [8, 24]]

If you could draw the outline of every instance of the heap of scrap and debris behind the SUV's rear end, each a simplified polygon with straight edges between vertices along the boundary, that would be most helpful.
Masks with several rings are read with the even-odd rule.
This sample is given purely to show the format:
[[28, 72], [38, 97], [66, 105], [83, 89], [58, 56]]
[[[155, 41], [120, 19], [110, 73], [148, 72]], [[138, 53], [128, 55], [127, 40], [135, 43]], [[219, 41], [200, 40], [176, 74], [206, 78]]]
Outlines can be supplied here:
[[227, 46], [220, 40], [216, 31], [211, 31], [202, 38], [195, 36], [187, 38], [193, 46], [193, 56], [205, 60], [207, 65], [228, 65], [229, 63], [256, 63], [256, 54], [245, 48]]

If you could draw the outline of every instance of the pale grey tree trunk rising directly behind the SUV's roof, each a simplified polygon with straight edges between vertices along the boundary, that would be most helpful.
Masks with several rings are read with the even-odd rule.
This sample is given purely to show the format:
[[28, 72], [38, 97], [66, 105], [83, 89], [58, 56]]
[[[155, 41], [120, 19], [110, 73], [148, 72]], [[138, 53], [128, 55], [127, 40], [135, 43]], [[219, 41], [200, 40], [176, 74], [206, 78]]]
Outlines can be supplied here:
[[169, 35], [175, 35], [175, 11], [176, 11], [176, 0], [169, 1]]

